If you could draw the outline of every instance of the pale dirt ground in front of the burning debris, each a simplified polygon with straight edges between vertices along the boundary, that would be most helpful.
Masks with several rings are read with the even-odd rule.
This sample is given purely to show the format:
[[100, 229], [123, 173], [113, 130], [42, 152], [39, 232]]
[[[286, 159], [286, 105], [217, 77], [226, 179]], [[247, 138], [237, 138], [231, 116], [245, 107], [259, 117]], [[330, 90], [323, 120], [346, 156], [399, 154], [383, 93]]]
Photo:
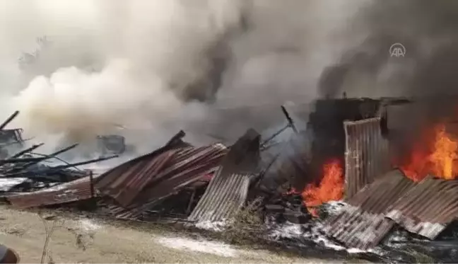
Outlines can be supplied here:
[[[67, 216], [47, 221], [47, 225], [52, 226], [53, 222], [56, 227], [48, 251], [56, 264], [345, 263], [253, 251], [215, 241], [189, 239], [170, 231], [141, 231], [83, 218]], [[45, 237], [45, 225], [38, 214], [0, 207], [0, 243], [15, 249], [20, 263], [40, 263]]]

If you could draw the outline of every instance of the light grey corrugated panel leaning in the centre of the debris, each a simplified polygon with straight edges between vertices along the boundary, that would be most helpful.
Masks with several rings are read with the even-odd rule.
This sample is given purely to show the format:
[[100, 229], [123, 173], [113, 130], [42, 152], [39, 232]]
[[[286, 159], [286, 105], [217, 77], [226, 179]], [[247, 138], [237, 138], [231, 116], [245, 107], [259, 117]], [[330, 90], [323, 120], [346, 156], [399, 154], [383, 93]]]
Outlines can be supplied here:
[[230, 218], [247, 200], [249, 177], [249, 174], [217, 173], [189, 215], [189, 221], [219, 222]]

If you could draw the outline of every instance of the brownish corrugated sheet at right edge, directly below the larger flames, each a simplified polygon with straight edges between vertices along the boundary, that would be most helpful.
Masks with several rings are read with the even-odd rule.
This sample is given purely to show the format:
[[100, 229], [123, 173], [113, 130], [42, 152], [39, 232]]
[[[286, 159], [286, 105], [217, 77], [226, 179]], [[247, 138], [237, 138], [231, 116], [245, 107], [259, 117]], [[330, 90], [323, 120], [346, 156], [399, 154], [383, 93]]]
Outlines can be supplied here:
[[435, 239], [458, 217], [458, 181], [425, 178], [387, 210], [412, 233]]

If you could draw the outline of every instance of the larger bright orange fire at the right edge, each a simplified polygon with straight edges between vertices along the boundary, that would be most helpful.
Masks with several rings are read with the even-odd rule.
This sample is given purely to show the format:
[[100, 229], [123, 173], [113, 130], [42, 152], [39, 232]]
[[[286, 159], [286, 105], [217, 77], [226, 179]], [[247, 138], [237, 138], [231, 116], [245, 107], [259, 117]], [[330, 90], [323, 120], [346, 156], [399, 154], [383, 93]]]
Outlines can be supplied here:
[[[425, 147], [421, 147], [424, 145]], [[413, 148], [409, 162], [401, 166], [412, 180], [422, 180], [428, 174], [445, 180], [458, 178], [458, 141], [445, 131], [445, 125], [433, 128], [433, 137], [424, 139]]]

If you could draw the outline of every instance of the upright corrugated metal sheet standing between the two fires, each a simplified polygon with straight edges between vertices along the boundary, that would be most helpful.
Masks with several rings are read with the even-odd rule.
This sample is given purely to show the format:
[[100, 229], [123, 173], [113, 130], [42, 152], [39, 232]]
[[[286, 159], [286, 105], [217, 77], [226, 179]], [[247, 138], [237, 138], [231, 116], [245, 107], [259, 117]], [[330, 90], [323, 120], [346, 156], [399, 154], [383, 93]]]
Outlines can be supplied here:
[[344, 122], [346, 199], [390, 170], [388, 141], [382, 137], [380, 120]]

